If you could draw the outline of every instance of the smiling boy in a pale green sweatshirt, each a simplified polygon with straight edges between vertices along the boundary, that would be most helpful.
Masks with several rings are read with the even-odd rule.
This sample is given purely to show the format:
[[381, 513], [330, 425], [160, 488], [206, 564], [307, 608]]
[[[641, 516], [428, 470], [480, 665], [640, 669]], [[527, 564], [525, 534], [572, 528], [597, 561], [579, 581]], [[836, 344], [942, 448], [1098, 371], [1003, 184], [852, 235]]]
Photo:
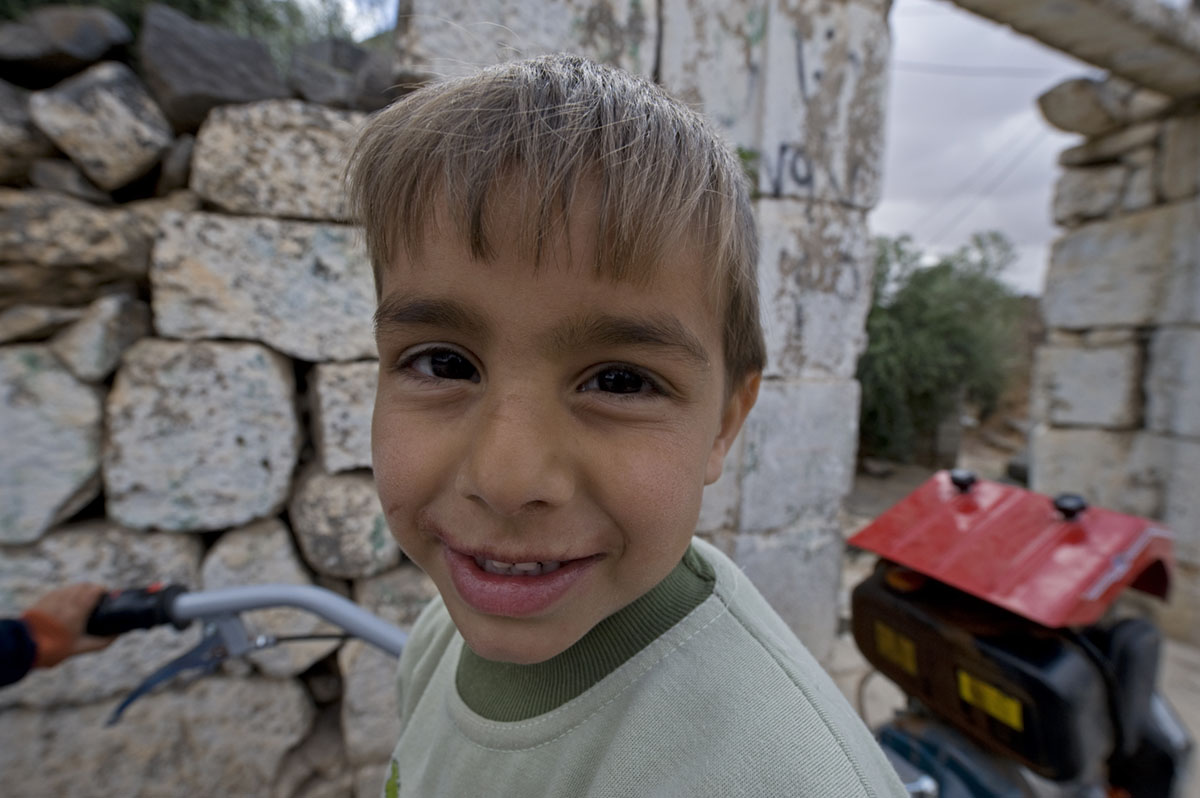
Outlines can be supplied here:
[[440, 600], [386, 796], [902, 796], [738, 569], [692, 540], [763, 367], [737, 160], [571, 56], [372, 120], [374, 474]]

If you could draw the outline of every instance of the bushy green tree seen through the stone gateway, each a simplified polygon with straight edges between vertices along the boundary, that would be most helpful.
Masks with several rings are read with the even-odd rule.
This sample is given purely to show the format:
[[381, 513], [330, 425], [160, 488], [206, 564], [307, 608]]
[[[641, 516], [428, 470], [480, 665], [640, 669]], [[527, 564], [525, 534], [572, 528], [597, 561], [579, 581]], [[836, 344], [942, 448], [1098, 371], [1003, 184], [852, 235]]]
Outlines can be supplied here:
[[983, 415], [996, 407], [1021, 335], [1020, 298], [1000, 280], [1015, 254], [1001, 233], [976, 234], [931, 264], [907, 235], [876, 247], [859, 443], [911, 460], [960, 398]]

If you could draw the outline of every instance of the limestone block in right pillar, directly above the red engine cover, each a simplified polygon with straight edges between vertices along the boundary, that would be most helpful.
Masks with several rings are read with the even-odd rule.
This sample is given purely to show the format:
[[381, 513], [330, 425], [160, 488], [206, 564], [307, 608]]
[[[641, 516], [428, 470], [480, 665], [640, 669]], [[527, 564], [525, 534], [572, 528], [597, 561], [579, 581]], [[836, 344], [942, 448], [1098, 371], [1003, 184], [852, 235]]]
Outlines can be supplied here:
[[1096, 506], [1159, 517], [1170, 454], [1163, 436], [1037, 425], [1030, 487], [1049, 496], [1079, 493]]

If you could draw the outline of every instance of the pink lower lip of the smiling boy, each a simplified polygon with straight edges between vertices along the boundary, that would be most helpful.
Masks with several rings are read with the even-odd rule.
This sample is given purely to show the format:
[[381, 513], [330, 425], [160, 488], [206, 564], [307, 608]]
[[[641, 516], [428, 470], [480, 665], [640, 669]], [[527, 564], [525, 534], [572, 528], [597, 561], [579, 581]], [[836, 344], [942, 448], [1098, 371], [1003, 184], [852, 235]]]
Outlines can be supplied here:
[[485, 571], [469, 554], [443, 545], [455, 590], [476, 612], [524, 618], [548, 610], [595, 565], [599, 557], [565, 560], [558, 570], [538, 576]]

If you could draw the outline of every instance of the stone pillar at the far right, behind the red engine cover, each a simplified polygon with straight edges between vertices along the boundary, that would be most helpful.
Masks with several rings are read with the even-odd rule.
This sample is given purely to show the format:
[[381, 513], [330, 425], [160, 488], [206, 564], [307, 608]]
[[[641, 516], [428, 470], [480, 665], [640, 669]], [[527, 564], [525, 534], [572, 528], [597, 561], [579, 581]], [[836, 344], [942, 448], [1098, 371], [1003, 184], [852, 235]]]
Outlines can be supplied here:
[[1178, 560], [1162, 620], [1200, 642], [1200, 110], [1116, 78], [1039, 104], [1086, 138], [1060, 156], [1033, 488], [1162, 520]]

